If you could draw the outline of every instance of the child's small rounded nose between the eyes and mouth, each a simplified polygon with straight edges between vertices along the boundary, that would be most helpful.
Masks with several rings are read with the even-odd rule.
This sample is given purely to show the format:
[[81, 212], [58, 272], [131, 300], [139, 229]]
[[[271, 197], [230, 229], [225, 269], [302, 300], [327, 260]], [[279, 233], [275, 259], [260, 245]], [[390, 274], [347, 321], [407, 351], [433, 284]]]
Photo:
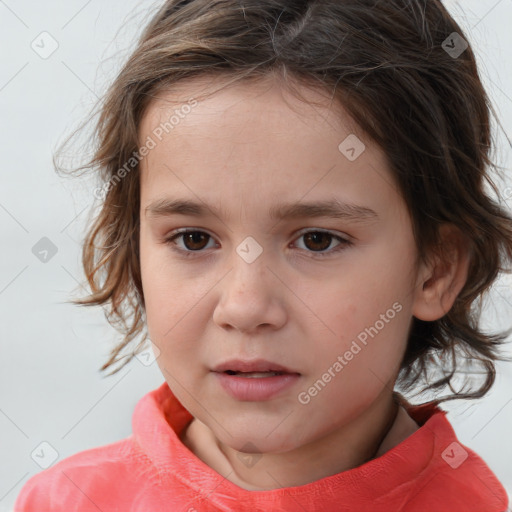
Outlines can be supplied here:
[[213, 320], [224, 329], [247, 334], [277, 330], [287, 319], [286, 286], [265, 251], [251, 261], [242, 250], [247, 246], [240, 245], [231, 260], [231, 271], [218, 285], [220, 295]]

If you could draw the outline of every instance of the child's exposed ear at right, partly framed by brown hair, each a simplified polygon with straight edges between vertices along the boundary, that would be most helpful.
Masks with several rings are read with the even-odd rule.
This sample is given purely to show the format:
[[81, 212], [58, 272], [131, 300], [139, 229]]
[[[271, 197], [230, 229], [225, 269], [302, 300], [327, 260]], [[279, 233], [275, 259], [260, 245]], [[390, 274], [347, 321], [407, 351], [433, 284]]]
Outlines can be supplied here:
[[439, 228], [440, 247], [432, 250], [418, 271], [413, 315], [419, 320], [439, 320], [450, 311], [464, 287], [470, 263], [467, 239], [453, 224]]

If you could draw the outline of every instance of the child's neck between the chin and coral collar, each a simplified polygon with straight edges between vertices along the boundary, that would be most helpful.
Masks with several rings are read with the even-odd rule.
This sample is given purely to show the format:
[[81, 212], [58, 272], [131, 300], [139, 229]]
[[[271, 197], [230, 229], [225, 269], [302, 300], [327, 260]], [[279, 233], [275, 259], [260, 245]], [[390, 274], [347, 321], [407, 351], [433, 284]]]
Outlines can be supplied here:
[[254, 464], [246, 463], [251, 454], [219, 442], [197, 419], [181, 437], [198, 458], [235, 485], [247, 490], [272, 490], [305, 485], [380, 456], [383, 447], [387, 451], [402, 440], [400, 435], [405, 431], [398, 428], [397, 419], [404, 417], [398, 411], [393, 394], [387, 392], [341, 428], [288, 452], [252, 454], [257, 457], [252, 459]]

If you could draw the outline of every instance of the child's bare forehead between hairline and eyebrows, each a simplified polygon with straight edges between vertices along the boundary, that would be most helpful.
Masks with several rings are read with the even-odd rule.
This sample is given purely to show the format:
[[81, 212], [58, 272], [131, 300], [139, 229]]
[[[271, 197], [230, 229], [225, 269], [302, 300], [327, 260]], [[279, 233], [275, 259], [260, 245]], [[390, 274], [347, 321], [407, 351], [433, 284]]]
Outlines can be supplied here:
[[[141, 162], [141, 206], [168, 192], [209, 204], [230, 197], [235, 210], [254, 215], [258, 203], [292, 203], [305, 194], [364, 204], [373, 187], [386, 199], [382, 187], [392, 178], [385, 154], [324, 91], [302, 88], [304, 102], [266, 81], [205, 96], [218, 87], [187, 82], [152, 101], [139, 131], [142, 142], [155, 141]], [[339, 146], [354, 136], [364, 151], [350, 161]]]

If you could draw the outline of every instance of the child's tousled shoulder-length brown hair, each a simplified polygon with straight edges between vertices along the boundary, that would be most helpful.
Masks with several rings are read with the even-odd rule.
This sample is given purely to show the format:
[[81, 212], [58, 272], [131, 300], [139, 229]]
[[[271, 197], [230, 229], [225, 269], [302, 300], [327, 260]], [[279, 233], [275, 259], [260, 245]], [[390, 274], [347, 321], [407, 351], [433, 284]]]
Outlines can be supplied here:
[[[467, 40], [439, 0], [166, 1], [97, 106], [95, 153], [78, 169], [97, 171], [107, 184], [83, 245], [92, 294], [73, 301], [108, 305], [109, 322], [124, 336], [101, 370], [124, 358], [112, 373], [119, 371], [147, 339], [138, 162], [128, 170], [126, 163], [137, 154], [151, 100], [195, 77], [223, 77], [226, 85], [278, 77], [290, 90], [295, 82], [331, 94], [384, 150], [421, 258], [439, 244], [442, 223], [455, 224], [469, 241], [464, 288], [441, 319], [413, 319], [397, 383], [409, 390], [440, 370], [424, 387], [448, 385], [454, 394], [439, 401], [487, 393], [510, 331], [484, 333], [478, 320], [482, 298], [512, 260], [512, 217], [484, 190], [499, 198], [488, 173], [498, 169], [490, 156], [494, 110], [471, 46], [458, 56], [445, 51], [454, 32]], [[137, 348], [118, 357], [139, 334]], [[452, 387], [461, 356], [484, 369], [477, 390]]]

